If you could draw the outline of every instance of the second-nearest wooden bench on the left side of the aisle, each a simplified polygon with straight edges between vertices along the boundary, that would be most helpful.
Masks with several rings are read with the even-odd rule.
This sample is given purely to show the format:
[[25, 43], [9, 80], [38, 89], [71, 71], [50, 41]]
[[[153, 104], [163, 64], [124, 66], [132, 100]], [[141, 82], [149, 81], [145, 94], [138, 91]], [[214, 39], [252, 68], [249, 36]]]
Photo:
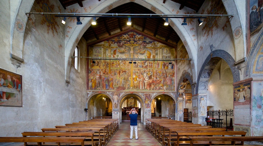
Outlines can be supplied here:
[[[84, 145], [95, 145], [96, 143], [101, 143], [99, 140], [94, 141], [93, 134], [94, 132], [23, 132], [21, 133], [23, 137], [28, 136], [42, 136], [42, 137], [85, 137]], [[86, 141], [89, 140], [89, 141]], [[31, 145], [31, 144], [28, 144]], [[48, 144], [45, 144], [48, 145]], [[73, 144], [71, 144], [73, 145]], [[76, 144], [79, 145], [79, 144]]]

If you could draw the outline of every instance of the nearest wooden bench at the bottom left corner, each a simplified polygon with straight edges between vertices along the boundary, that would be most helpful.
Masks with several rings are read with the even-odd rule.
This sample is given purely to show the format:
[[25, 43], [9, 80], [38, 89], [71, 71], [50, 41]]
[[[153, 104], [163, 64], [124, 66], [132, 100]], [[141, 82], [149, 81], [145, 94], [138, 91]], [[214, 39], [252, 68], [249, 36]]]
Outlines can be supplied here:
[[53, 145], [60, 145], [61, 143], [79, 143], [84, 146], [85, 137], [0, 137], [0, 142], [23, 142], [25, 146], [27, 143], [36, 143], [41, 146], [42, 143], [53, 143]]

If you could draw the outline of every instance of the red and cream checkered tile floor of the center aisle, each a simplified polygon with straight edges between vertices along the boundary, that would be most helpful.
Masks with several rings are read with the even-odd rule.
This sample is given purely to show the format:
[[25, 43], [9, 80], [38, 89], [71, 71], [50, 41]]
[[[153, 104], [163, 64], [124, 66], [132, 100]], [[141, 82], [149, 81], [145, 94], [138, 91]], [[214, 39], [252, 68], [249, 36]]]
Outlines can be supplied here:
[[143, 123], [138, 122], [138, 139], [135, 139], [135, 132], [133, 131], [133, 139], [130, 139], [130, 122], [122, 122], [119, 124], [119, 129], [110, 138], [107, 146], [119, 145], [162, 145], [155, 137], [145, 128]]

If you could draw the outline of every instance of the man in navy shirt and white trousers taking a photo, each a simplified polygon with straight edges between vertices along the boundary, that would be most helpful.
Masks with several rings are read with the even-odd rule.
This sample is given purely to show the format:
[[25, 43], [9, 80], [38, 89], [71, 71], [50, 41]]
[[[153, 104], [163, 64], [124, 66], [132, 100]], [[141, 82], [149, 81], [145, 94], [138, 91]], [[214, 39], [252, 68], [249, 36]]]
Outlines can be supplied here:
[[131, 133], [130, 133], [130, 139], [132, 139], [133, 136], [133, 129], [135, 131], [135, 139], [138, 139], [138, 130], [137, 130], [137, 117], [138, 113], [137, 111], [133, 108], [129, 112], [130, 116], [130, 127], [131, 127]]

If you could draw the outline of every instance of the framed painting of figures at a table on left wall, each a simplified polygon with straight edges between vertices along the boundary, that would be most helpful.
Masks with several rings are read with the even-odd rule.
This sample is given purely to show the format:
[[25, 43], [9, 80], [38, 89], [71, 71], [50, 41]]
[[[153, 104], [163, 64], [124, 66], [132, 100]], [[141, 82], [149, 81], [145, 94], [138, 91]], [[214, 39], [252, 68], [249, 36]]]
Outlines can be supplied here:
[[0, 69], [0, 106], [22, 107], [22, 75]]

